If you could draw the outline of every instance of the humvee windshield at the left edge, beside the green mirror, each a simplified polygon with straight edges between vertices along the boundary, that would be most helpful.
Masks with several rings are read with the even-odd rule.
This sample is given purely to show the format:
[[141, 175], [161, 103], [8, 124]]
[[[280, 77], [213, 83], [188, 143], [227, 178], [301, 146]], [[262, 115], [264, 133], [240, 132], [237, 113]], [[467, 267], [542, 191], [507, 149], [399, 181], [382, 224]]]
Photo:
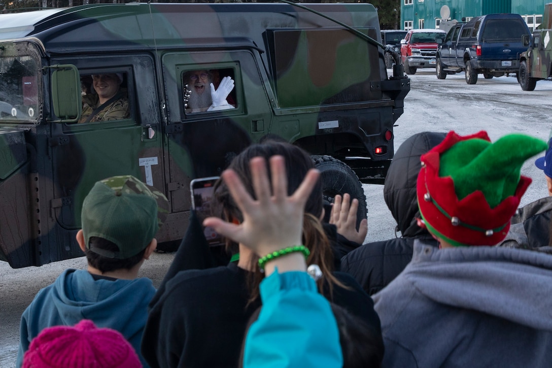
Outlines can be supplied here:
[[0, 57], [0, 121], [36, 122], [39, 68], [30, 56]]

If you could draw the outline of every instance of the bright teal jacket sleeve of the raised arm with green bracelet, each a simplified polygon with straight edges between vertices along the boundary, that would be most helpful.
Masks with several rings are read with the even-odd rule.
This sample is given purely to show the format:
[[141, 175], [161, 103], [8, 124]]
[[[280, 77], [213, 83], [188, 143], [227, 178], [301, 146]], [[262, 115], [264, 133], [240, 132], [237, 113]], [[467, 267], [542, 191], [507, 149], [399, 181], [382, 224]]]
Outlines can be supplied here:
[[261, 282], [263, 307], [246, 337], [243, 367], [343, 366], [330, 303], [306, 272], [275, 271]]

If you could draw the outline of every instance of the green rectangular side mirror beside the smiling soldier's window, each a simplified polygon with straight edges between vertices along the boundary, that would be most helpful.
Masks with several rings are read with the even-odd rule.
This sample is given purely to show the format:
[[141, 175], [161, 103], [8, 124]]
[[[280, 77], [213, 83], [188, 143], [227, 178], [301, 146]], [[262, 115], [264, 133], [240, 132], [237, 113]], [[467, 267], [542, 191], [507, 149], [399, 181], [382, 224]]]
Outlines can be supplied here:
[[52, 103], [57, 122], [76, 123], [81, 118], [81, 77], [72, 64], [52, 65]]

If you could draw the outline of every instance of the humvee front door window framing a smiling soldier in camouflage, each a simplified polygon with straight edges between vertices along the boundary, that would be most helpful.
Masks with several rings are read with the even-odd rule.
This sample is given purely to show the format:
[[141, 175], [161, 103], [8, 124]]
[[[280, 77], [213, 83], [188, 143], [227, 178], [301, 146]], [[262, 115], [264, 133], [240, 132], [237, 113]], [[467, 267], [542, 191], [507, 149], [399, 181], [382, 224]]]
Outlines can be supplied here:
[[126, 73], [102, 72], [81, 75], [82, 115], [79, 123], [130, 118]]

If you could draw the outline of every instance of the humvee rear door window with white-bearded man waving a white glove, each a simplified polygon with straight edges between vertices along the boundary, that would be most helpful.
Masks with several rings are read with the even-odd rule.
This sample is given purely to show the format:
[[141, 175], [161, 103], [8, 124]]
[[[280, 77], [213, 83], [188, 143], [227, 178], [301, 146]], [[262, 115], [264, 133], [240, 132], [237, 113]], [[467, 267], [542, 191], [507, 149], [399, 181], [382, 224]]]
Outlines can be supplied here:
[[[195, 69], [183, 72], [182, 94], [186, 114], [236, 108], [234, 74], [231, 68]], [[211, 83], [215, 93], [211, 93]]]

